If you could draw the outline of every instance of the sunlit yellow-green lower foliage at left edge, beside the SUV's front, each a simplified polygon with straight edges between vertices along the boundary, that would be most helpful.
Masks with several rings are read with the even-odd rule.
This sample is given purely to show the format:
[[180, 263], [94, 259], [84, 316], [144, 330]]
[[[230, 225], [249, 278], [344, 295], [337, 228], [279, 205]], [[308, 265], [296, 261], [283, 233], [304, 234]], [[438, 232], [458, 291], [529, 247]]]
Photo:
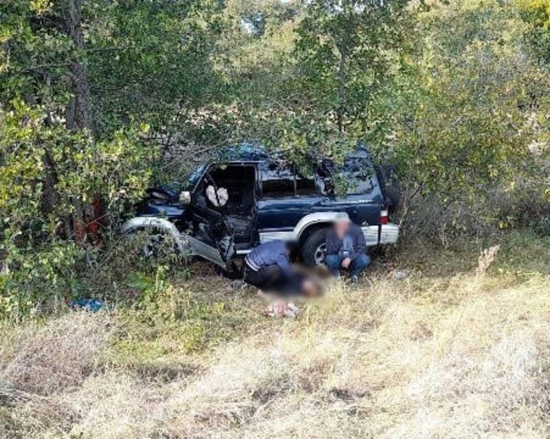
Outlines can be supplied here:
[[[83, 247], [60, 238], [83, 243], [98, 225], [103, 234], [116, 225], [148, 184], [151, 151], [136, 130], [94, 142], [61, 124], [45, 126], [38, 106], [14, 100], [8, 108], [0, 111], [0, 227], [10, 273], [0, 286], [0, 315], [19, 318], [48, 298], [74, 293]], [[87, 207], [75, 217], [86, 222], [69, 227], [67, 218], [91, 201], [101, 201], [102, 217]]]

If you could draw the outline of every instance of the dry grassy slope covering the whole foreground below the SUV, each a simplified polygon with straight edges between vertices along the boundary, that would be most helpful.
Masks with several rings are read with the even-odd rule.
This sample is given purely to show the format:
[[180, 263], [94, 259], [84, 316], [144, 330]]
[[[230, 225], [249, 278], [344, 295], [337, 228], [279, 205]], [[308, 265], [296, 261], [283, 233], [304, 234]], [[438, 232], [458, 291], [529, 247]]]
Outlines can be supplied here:
[[550, 242], [501, 241], [480, 274], [475, 246], [402, 249], [296, 321], [197, 265], [12, 330], [0, 437], [547, 437]]

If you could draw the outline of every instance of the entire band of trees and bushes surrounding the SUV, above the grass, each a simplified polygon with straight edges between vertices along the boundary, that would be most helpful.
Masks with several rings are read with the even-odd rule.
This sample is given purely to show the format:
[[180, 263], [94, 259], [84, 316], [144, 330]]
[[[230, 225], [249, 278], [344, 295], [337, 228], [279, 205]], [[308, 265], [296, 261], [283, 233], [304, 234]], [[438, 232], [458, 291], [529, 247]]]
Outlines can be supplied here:
[[153, 172], [181, 179], [243, 140], [300, 165], [366, 142], [399, 168], [415, 234], [544, 233], [549, 16], [547, 0], [4, 1], [3, 315], [80, 291]]

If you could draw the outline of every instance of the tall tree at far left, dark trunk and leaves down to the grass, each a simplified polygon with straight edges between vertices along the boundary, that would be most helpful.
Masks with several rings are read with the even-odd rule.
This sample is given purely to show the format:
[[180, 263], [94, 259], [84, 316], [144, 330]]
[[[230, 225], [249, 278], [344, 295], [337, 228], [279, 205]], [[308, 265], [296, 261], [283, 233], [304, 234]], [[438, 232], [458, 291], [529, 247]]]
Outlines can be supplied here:
[[146, 126], [94, 136], [83, 13], [80, 0], [0, 10], [0, 253], [12, 269], [0, 315], [19, 319], [58, 294], [97, 232], [96, 206], [112, 225], [151, 175]]

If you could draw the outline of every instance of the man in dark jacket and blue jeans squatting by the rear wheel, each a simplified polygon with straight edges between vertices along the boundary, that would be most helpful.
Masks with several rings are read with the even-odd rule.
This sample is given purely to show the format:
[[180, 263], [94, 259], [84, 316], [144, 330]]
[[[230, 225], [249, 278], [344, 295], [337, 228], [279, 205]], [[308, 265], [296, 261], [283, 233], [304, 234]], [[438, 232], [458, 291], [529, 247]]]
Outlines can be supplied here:
[[327, 232], [325, 241], [327, 256], [325, 265], [335, 276], [344, 270], [349, 273], [351, 282], [357, 282], [358, 276], [369, 266], [371, 260], [366, 254], [365, 237], [361, 227], [342, 212], [336, 217], [333, 229]]

